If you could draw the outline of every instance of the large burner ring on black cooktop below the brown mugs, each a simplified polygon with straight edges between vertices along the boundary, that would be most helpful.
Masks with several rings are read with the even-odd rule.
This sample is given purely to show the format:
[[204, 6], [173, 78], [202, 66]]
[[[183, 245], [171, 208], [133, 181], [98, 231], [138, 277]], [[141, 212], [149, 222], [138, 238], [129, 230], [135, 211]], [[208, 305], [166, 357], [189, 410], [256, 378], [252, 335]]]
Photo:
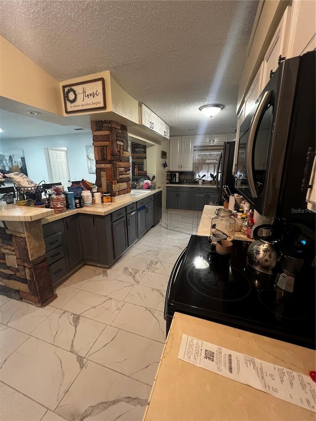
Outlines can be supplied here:
[[228, 263], [213, 263], [208, 268], [191, 267], [189, 284], [201, 295], [219, 301], [238, 301], [250, 293], [250, 282]]

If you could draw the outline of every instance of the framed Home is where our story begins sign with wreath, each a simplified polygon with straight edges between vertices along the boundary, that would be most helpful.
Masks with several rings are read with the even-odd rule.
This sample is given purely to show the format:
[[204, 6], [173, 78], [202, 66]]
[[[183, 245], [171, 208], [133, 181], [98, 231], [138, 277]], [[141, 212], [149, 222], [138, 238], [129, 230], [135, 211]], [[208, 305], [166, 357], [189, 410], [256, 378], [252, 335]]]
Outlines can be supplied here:
[[65, 113], [106, 109], [104, 78], [63, 85]]

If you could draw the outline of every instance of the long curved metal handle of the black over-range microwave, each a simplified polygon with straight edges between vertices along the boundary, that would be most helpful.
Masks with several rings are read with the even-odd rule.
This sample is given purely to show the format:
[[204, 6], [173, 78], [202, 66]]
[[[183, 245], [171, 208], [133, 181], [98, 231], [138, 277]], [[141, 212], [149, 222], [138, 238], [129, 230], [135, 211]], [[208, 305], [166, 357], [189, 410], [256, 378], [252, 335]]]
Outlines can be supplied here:
[[272, 95], [273, 95], [273, 91], [266, 91], [263, 94], [263, 97], [253, 116], [253, 119], [251, 121], [250, 128], [249, 128], [249, 137], [248, 137], [247, 150], [246, 150], [246, 171], [247, 171], [249, 190], [252, 197], [259, 197], [258, 186], [256, 185], [254, 175], [253, 175], [253, 172], [254, 172], [253, 149], [255, 145], [255, 135], [258, 132], [259, 123], [262, 119], [263, 113], [265, 112], [268, 104], [271, 101]]

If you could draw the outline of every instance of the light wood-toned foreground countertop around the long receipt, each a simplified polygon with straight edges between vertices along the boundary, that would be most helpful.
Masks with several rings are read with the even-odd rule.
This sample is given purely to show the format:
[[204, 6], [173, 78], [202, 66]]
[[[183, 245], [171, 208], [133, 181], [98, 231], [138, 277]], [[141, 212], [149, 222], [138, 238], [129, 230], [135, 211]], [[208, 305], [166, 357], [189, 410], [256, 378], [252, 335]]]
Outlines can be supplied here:
[[315, 420], [315, 413], [178, 359], [182, 335], [308, 375], [315, 351], [175, 313], [144, 421]]

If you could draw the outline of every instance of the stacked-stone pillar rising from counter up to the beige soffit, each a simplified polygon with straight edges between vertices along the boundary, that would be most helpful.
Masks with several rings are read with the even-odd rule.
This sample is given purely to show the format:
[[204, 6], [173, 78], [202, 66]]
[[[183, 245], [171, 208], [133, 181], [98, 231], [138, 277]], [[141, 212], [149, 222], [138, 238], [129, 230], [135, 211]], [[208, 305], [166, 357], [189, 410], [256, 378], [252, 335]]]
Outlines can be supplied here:
[[130, 192], [127, 129], [111, 120], [91, 121], [96, 185], [112, 196]]

